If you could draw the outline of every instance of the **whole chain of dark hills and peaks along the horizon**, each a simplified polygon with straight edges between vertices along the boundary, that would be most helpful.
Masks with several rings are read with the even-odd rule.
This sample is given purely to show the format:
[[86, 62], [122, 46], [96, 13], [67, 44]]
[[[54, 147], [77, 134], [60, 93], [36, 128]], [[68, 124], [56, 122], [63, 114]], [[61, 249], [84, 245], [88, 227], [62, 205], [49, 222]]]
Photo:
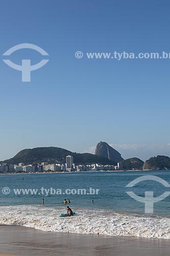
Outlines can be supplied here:
[[[24, 166], [38, 166], [41, 165], [41, 163], [46, 163], [49, 166], [62, 166], [66, 164], [67, 156], [71, 156], [74, 159], [74, 168], [72, 170], [91, 170], [90, 166], [96, 170], [170, 169], [170, 158], [167, 156], [151, 157], [145, 162], [136, 157], [123, 159], [121, 154], [108, 143], [100, 141], [96, 145], [95, 154], [80, 154], [60, 147], [36, 147], [25, 149], [17, 153], [13, 158], [1, 161], [0, 172], [2, 172], [2, 166], [10, 165], [12, 168], [12, 166], [19, 166], [19, 163], [24, 163]], [[46, 169], [47, 168], [48, 167], [46, 167]]]

